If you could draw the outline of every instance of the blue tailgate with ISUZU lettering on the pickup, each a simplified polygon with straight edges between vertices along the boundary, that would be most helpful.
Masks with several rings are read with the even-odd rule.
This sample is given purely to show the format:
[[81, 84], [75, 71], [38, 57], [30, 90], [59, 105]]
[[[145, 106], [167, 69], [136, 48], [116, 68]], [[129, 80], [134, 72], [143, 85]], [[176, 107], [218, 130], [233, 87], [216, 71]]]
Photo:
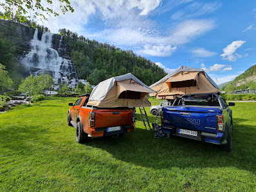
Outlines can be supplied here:
[[163, 108], [164, 124], [194, 131], [217, 133], [218, 107], [175, 106]]

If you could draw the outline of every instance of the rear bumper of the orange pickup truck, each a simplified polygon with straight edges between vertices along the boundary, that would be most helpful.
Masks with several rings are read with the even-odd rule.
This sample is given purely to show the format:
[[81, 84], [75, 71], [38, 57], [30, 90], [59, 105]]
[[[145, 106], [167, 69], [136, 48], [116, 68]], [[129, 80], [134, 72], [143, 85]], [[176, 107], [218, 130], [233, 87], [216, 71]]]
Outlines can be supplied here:
[[135, 131], [134, 125], [123, 125], [121, 126], [121, 130], [119, 131], [107, 131], [107, 128], [89, 128], [88, 135], [90, 137], [104, 137], [110, 135], [119, 135], [123, 133], [133, 132]]

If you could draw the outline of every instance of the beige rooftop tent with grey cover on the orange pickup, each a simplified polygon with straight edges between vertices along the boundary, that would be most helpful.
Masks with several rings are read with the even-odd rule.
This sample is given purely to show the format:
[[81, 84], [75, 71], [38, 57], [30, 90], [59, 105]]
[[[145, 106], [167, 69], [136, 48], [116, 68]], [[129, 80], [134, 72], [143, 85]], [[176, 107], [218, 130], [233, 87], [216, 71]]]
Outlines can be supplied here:
[[99, 108], [149, 107], [146, 94], [155, 93], [132, 73], [112, 77], [100, 82], [92, 90], [88, 105]]

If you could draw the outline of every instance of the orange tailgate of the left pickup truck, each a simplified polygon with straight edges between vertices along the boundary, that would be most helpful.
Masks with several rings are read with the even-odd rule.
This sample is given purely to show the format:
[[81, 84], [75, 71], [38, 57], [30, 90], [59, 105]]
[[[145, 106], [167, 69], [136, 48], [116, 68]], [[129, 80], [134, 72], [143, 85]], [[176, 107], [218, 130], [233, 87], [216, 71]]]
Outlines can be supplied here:
[[132, 124], [133, 110], [95, 110], [95, 128]]

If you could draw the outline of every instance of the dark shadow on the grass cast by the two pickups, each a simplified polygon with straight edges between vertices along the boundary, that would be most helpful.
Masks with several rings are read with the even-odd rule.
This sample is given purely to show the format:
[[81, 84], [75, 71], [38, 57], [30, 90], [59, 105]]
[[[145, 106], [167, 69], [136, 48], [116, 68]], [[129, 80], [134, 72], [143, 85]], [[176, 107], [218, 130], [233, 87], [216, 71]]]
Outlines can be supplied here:
[[[253, 129], [248, 125], [245, 127]], [[142, 129], [137, 129], [134, 133], [126, 133], [123, 138], [93, 139], [85, 145], [104, 149], [118, 160], [154, 169], [233, 166], [255, 172], [256, 169], [253, 166], [256, 163], [255, 149], [253, 147], [246, 148], [246, 146], [255, 144], [253, 138], [256, 133], [246, 140], [248, 135], [240, 133], [237, 128], [237, 130], [233, 130], [232, 135], [233, 151], [231, 153], [223, 151], [221, 146], [215, 144], [182, 137], [154, 139], [153, 131]], [[244, 164], [244, 162], [251, 163]]]

